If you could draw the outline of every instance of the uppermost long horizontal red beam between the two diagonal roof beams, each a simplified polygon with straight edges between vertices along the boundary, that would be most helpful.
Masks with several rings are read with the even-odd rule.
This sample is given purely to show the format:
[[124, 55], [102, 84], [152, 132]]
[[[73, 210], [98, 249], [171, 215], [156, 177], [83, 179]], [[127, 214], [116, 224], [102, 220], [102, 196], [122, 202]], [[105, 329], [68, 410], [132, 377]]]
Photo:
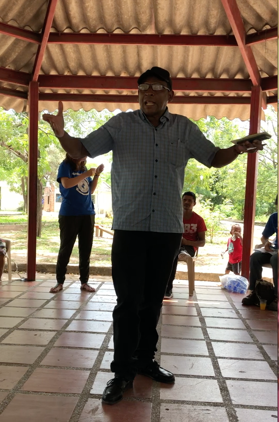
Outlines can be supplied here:
[[50, 33], [49, 44], [118, 44], [151, 46], [232, 46], [233, 35]]

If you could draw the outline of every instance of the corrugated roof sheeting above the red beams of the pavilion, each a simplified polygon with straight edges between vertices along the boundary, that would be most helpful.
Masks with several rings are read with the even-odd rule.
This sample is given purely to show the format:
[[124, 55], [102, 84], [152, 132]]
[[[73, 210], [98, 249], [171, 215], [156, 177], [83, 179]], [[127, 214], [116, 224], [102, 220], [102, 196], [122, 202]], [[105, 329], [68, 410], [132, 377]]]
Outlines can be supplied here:
[[[2, 0], [0, 21], [40, 32], [47, 0]], [[277, 25], [276, 0], [237, 0], [247, 34]], [[204, 34], [231, 35], [232, 30], [220, 0], [59, 0], [52, 32]], [[38, 46], [0, 34], [0, 66], [32, 73]], [[255, 44], [252, 51], [261, 77], [277, 74], [277, 42]], [[61, 45], [47, 46], [43, 74], [139, 76], [152, 66], [168, 69], [172, 77], [244, 78], [249, 75], [237, 47], [150, 45]], [[9, 83], [1, 86], [17, 88]], [[26, 91], [26, 88], [19, 89]], [[70, 90], [41, 90], [65, 93]], [[91, 94], [136, 94], [135, 91], [78, 90]], [[206, 93], [195, 93], [207, 95]], [[176, 95], [189, 95], [178, 93]], [[210, 94], [212, 95], [212, 94]], [[227, 93], [218, 93], [228, 95]], [[242, 94], [233, 94], [241, 96]], [[247, 94], [245, 94], [247, 95]], [[268, 93], [272, 95], [272, 93]], [[0, 95], [0, 105], [16, 111], [26, 109], [26, 100]], [[40, 102], [40, 110], [53, 111], [57, 102]], [[65, 108], [110, 111], [136, 109], [136, 104], [65, 103]], [[197, 120], [206, 115], [229, 119], [249, 118], [249, 105], [170, 104], [173, 113]]]

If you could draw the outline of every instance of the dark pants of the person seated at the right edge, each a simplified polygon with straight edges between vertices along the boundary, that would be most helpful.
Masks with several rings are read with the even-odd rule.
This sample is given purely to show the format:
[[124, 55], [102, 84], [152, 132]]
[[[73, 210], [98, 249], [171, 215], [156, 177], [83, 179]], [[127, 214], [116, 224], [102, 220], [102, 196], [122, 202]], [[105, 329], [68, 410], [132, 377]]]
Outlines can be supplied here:
[[249, 289], [255, 290], [256, 280], [261, 279], [262, 265], [270, 264], [272, 267], [272, 276], [275, 293], [278, 288], [278, 255], [271, 255], [270, 253], [261, 253], [255, 251], [250, 256], [250, 275], [249, 275]]

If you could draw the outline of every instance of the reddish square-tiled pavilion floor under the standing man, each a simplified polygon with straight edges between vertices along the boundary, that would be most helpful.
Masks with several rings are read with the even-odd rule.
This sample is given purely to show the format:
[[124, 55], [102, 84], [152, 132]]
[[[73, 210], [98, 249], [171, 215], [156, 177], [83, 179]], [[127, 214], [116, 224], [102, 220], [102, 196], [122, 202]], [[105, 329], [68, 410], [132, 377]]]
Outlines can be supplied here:
[[114, 406], [101, 394], [112, 374], [110, 277], [96, 293], [70, 277], [0, 285], [0, 422], [259, 422], [277, 418], [277, 313], [241, 305], [242, 296], [179, 282], [163, 303], [156, 359], [172, 385], [138, 375]]

